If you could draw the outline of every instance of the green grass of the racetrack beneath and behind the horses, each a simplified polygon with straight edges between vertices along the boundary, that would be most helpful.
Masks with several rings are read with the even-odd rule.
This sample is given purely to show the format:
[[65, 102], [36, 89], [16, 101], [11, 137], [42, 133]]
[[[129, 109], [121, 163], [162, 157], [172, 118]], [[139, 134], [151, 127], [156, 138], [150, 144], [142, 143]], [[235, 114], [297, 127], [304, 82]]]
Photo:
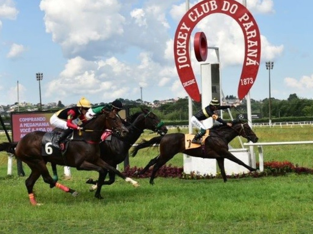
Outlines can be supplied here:
[[[260, 142], [312, 140], [313, 128], [256, 128]], [[153, 134], [144, 134], [144, 138]], [[0, 138], [1, 141], [1, 138]], [[232, 144], [236, 148], [239, 141]], [[290, 161], [313, 168], [313, 145], [265, 146], [265, 161]], [[29, 204], [25, 178], [6, 176], [7, 157], [0, 157], [0, 233], [223, 233], [309, 234], [313, 231], [312, 175], [211, 180], [137, 179], [141, 187], [117, 179], [102, 190], [103, 200], [88, 191], [85, 180], [95, 172], [72, 169], [71, 180], [61, 183], [76, 189], [71, 197], [49, 189], [40, 178], [35, 193], [40, 207]], [[130, 158], [142, 167], [156, 149], [142, 150]], [[182, 166], [182, 156], [169, 161]], [[169, 164], [168, 163], [168, 164]], [[15, 162], [14, 162], [15, 165]], [[120, 169], [122, 165], [120, 165]], [[29, 169], [24, 167], [29, 175]], [[59, 167], [59, 175], [63, 168]]]

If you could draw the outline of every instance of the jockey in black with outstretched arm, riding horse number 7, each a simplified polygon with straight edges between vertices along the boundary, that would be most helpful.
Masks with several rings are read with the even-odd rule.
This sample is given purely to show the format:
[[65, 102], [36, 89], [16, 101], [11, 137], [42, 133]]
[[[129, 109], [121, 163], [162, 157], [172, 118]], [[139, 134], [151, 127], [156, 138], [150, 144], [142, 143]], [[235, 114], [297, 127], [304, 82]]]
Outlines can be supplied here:
[[191, 142], [193, 144], [201, 144], [200, 139], [205, 134], [205, 131], [206, 131], [206, 128], [200, 122], [201, 120], [208, 119], [208, 118], [212, 117], [214, 120], [217, 120], [218, 122], [222, 123], [223, 125], [228, 125], [231, 127], [232, 126], [231, 123], [226, 123], [221, 117], [214, 114], [214, 111], [216, 111], [216, 110], [224, 110], [224, 109], [228, 109], [230, 107], [235, 107], [235, 105], [232, 104], [232, 105], [221, 106], [219, 104], [219, 101], [216, 98], [214, 98], [213, 100], [211, 100], [210, 104], [207, 107], [203, 108], [202, 110], [199, 110], [195, 115], [193, 115], [190, 119], [191, 123], [194, 127], [198, 128], [199, 131], [195, 135], [195, 137], [192, 139]]

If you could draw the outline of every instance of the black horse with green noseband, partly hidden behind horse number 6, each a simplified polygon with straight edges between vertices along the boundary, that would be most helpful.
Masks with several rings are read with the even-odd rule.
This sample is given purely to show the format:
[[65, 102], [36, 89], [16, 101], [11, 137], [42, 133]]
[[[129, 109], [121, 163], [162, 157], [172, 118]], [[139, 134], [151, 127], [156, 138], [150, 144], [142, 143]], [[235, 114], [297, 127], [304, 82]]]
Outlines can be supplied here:
[[[123, 162], [128, 156], [128, 151], [136, 140], [143, 133], [144, 129], [149, 129], [160, 135], [167, 133], [167, 128], [163, 125], [158, 117], [147, 109], [141, 109], [127, 118], [128, 134], [121, 138], [116, 134], [112, 135], [111, 140], [105, 140], [100, 143], [100, 157], [112, 167], [116, 168], [117, 164]], [[109, 173], [109, 180], [105, 181], [105, 185], [110, 185], [115, 182], [115, 173], [105, 170], [105, 176]], [[86, 183], [96, 184], [97, 181], [89, 179]], [[97, 188], [96, 185], [90, 188], [93, 191]]]

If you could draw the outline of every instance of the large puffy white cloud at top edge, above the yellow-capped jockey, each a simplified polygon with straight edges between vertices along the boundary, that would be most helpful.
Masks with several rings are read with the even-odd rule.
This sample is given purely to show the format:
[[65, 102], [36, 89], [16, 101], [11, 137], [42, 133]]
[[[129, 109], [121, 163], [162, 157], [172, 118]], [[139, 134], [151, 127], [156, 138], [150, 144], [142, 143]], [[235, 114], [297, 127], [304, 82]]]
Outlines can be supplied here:
[[92, 53], [99, 56], [101, 53], [97, 55], [96, 51], [105, 50], [107, 46], [103, 44], [106, 40], [123, 34], [125, 18], [119, 13], [120, 8], [117, 0], [40, 2], [40, 9], [45, 12], [46, 32], [52, 34], [53, 41], [62, 46], [69, 58], [81, 52], [85, 52], [86, 56]]

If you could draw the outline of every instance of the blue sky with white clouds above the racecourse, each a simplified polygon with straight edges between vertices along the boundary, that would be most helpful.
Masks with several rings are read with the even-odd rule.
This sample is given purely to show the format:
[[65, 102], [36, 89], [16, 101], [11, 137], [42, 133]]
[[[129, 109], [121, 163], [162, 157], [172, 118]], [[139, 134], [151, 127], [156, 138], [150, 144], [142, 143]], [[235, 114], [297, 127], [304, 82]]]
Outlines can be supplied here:
[[[218, 0], [219, 1], [219, 0]], [[191, 8], [199, 1], [190, 0]], [[239, 3], [243, 1], [238, 0]], [[313, 95], [313, 1], [246, 0], [261, 34], [261, 63], [250, 97], [286, 100]], [[184, 98], [174, 62], [173, 38], [186, 12], [185, 0], [0, 0], [0, 105], [62, 101], [85, 96], [91, 103], [117, 98], [144, 101]], [[218, 47], [224, 95], [238, 96], [244, 37], [222, 14], [201, 20]], [[193, 46], [192, 46], [193, 48]], [[191, 50], [201, 90], [200, 63]], [[206, 63], [216, 63], [214, 50]]]

